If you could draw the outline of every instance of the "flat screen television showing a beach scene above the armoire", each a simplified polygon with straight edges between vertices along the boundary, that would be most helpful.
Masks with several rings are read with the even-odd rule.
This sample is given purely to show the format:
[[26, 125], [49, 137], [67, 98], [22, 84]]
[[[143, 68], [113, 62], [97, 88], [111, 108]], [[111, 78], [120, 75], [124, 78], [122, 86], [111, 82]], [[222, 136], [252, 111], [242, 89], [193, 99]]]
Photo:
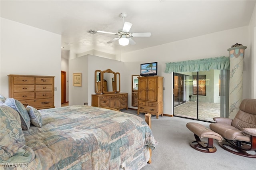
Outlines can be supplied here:
[[154, 76], [157, 75], [157, 62], [140, 64], [141, 76]]

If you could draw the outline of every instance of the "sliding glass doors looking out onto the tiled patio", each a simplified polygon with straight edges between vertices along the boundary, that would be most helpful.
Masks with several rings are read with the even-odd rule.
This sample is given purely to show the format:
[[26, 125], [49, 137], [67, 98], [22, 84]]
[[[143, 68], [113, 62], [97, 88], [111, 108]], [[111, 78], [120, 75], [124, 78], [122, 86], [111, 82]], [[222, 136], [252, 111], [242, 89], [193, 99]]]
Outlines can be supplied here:
[[[177, 102], [176, 80], [182, 77], [184, 85], [182, 103]], [[174, 73], [174, 116], [213, 122], [220, 117], [220, 70]], [[178, 85], [178, 90], [182, 89]], [[175, 97], [175, 95], [177, 97]]]

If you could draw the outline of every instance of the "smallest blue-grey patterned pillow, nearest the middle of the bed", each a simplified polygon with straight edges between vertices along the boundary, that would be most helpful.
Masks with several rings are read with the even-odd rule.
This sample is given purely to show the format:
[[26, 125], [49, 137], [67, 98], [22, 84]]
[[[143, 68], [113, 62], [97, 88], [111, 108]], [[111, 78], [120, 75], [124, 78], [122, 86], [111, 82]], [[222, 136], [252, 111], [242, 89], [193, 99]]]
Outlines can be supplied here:
[[30, 116], [31, 123], [36, 127], [42, 127], [43, 118], [41, 113], [32, 106], [27, 106], [26, 110], [28, 111], [28, 115]]

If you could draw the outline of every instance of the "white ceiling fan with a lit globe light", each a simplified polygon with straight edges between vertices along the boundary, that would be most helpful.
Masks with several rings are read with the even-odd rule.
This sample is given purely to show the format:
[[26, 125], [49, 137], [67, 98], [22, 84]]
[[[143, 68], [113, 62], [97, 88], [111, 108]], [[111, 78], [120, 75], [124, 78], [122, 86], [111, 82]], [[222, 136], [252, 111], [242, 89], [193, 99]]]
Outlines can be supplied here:
[[[120, 17], [123, 18], [123, 22], [124, 22], [124, 18], [127, 16], [126, 13], [121, 13]], [[116, 38], [110, 40], [107, 43], [112, 43], [116, 40], [118, 40], [120, 45], [128, 45], [129, 43], [131, 45], [136, 44], [136, 42], [134, 42], [134, 40], [132, 40], [131, 37], [150, 37], [151, 33], [150, 32], [140, 32], [140, 33], [130, 33], [130, 29], [132, 27], [132, 23], [130, 22], [124, 22], [124, 27], [122, 30], [118, 30], [117, 33], [114, 32], [106, 32], [106, 31], [97, 31], [100, 33], [106, 33], [106, 34], [114, 34], [114, 35], [118, 35]]]

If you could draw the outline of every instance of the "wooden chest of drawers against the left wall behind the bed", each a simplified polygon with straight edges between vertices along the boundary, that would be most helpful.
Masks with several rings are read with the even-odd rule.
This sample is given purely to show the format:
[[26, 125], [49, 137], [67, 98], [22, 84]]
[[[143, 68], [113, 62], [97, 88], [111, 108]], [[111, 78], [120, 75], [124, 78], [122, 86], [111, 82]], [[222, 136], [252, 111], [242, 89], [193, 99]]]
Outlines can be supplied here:
[[8, 75], [9, 97], [25, 107], [36, 109], [54, 107], [54, 76]]

